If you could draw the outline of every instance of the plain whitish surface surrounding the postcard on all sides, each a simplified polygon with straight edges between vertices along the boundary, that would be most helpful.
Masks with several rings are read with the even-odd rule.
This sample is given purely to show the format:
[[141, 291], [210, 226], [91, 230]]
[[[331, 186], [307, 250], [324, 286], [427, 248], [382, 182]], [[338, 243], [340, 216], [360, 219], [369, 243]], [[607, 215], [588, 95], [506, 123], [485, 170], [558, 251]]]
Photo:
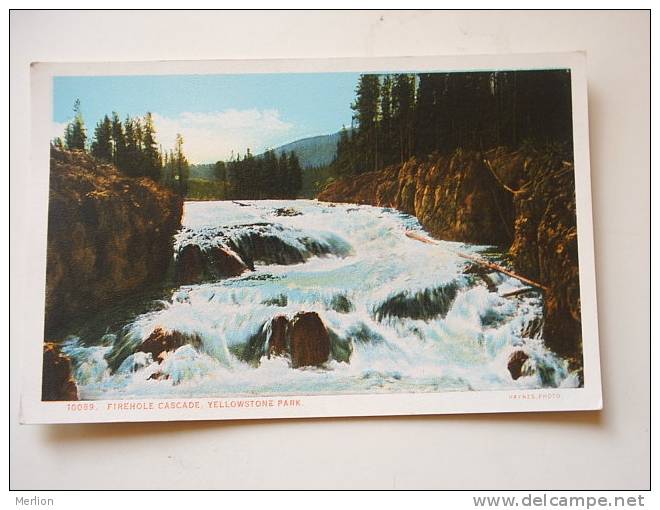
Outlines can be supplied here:
[[[10, 23], [12, 488], [648, 488], [647, 13], [14, 12]], [[31, 61], [575, 50], [588, 63], [602, 412], [18, 425]]]

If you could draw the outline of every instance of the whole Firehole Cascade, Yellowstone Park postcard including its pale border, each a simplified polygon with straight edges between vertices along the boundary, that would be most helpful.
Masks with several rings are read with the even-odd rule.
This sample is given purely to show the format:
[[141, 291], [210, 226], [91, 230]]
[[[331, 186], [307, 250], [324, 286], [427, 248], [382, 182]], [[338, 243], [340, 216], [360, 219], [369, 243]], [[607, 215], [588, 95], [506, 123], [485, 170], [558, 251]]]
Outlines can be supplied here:
[[600, 409], [584, 60], [33, 64], [22, 421]]

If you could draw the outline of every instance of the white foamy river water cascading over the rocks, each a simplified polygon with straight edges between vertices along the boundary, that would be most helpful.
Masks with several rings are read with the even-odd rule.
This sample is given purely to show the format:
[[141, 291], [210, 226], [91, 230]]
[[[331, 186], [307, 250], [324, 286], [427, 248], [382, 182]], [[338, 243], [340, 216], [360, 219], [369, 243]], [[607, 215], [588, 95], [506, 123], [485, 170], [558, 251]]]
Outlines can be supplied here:
[[[495, 390], [575, 386], [567, 363], [540, 337], [523, 331], [542, 317], [536, 293], [492, 274], [497, 292], [464, 274], [456, 252], [483, 247], [424, 244], [414, 217], [397, 211], [309, 200], [189, 202], [175, 249], [186, 244], [253, 250], [254, 237], [276, 238], [302, 262], [278, 265], [255, 256], [254, 271], [183, 285], [156, 311], [102, 338], [71, 336], [63, 347], [74, 362], [83, 399], [207, 397]], [[296, 215], [277, 209], [292, 208]], [[233, 244], [232, 244], [233, 243]], [[287, 262], [291, 262], [288, 260]], [[413, 301], [415, 299], [415, 301]], [[292, 369], [285, 358], [243, 360], [240, 348], [275, 315], [315, 311], [348, 362]], [[164, 360], [139, 352], [156, 328], [197, 335]], [[334, 351], [335, 349], [333, 349]], [[509, 356], [530, 359], [513, 380]], [[121, 354], [118, 355], [117, 353]], [[258, 358], [258, 356], [257, 356]], [[336, 356], [341, 358], [341, 356]], [[114, 360], [114, 361], [113, 361]], [[258, 365], [258, 366], [257, 366]]]

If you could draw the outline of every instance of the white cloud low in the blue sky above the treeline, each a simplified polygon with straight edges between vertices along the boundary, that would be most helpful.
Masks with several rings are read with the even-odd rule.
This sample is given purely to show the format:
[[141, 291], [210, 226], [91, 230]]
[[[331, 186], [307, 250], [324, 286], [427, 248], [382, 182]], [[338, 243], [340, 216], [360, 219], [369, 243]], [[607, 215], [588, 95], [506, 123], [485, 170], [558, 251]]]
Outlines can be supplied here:
[[278, 145], [293, 128], [277, 110], [225, 110], [222, 112], [183, 112], [176, 117], [153, 114], [156, 139], [169, 150], [177, 133], [184, 141], [184, 152], [193, 162], [229, 159], [231, 152], [254, 153]]

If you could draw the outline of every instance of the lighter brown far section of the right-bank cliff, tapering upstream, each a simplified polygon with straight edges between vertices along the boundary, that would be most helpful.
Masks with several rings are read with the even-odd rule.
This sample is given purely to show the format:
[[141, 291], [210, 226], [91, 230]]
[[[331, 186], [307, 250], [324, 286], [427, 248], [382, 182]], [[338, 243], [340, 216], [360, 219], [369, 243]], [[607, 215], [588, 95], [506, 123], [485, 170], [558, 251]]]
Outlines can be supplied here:
[[509, 245], [513, 239], [513, 197], [479, 152], [411, 158], [338, 180], [318, 199], [393, 207], [415, 215], [434, 236], [449, 241]]

